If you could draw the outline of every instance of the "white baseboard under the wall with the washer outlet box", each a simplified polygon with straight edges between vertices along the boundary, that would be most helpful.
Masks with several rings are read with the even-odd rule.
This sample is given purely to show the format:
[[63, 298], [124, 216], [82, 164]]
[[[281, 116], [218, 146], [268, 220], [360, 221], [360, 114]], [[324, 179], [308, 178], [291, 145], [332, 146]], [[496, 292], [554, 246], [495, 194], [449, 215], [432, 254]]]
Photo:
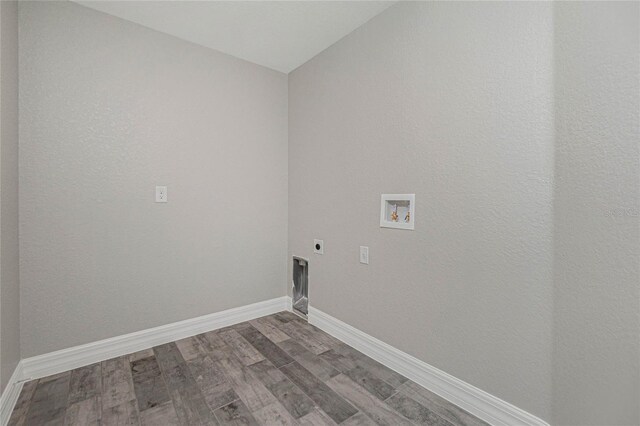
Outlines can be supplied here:
[[309, 323], [494, 426], [549, 426], [544, 420], [309, 307]]

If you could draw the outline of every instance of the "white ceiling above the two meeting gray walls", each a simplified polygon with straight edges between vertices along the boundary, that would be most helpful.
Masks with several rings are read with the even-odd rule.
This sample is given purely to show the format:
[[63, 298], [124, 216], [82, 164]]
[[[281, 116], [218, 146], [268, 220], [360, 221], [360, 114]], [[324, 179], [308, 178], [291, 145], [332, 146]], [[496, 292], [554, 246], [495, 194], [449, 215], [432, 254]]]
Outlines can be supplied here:
[[393, 1], [86, 1], [84, 6], [288, 73]]

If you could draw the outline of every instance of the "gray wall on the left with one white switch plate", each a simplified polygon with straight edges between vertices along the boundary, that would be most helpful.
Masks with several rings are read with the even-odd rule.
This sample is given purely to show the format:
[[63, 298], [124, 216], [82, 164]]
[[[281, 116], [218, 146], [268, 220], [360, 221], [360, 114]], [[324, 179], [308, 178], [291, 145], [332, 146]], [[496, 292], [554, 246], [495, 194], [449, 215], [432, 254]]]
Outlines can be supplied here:
[[285, 74], [21, 2], [20, 179], [23, 357], [284, 294]]

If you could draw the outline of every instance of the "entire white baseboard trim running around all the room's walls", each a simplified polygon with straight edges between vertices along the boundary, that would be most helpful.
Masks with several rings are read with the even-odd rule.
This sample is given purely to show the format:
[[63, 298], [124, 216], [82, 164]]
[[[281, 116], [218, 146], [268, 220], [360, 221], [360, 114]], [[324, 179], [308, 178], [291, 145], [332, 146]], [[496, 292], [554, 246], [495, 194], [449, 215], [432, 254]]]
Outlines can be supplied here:
[[[0, 396], [0, 425], [4, 426], [8, 423], [22, 390], [23, 381], [61, 373], [283, 310], [291, 311], [291, 309], [291, 297], [284, 296], [23, 359]], [[534, 415], [311, 306], [309, 322], [494, 426], [549, 426]]]

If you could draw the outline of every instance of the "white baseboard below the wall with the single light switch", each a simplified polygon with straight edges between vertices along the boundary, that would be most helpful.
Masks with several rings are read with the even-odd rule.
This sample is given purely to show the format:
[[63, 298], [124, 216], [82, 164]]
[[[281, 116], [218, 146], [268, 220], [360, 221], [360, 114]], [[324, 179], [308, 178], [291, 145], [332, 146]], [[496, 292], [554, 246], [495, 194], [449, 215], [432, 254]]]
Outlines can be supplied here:
[[22, 360], [21, 380], [33, 380], [289, 309], [286, 296], [116, 336]]

